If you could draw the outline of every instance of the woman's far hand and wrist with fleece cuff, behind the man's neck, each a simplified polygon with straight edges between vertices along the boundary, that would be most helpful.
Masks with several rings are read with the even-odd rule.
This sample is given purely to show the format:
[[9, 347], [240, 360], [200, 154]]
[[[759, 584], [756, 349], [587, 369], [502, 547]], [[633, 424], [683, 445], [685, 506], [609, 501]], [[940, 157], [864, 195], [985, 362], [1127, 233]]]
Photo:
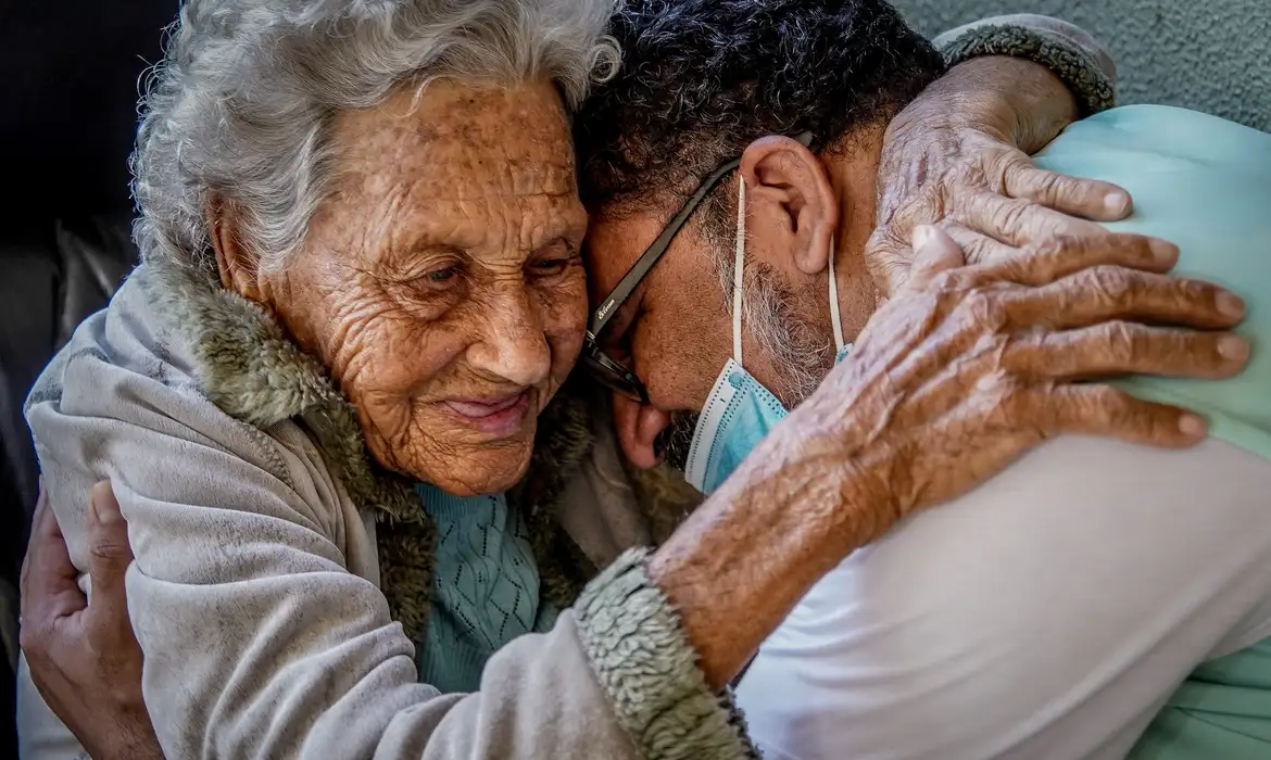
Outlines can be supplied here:
[[1124, 189], [1036, 169], [1028, 158], [1077, 118], [1115, 104], [1116, 67], [1093, 37], [1021, 14], [967, 24], [935, 42], [948, 74], [892, 119], [883, 145], [867, 261], [885, 294], [904, 283], [910, 238], [921, 224], [944, 222], [976, 262], [993, 249], [990, 240], [1094, 234], [1088, 220], [1130, 214]]

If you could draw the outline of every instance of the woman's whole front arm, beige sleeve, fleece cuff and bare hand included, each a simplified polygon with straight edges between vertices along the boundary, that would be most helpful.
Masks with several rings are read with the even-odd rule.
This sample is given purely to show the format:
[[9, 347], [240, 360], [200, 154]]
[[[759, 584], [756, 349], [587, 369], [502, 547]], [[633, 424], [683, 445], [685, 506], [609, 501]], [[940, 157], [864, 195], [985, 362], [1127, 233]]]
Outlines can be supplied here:
[[[144, 693], [167, 756], [750, 757], [722, 688], [854, 548], [1047, 435], [1200, 438], [1204, 424], [1178, 409], [1066, 385], [1239, 369], [1216, 351], [1221, 333], [1070, 329], [1131, 315], [1238, 320], [1218, 288], [1154, 275], [1176, 250], [1117, 236], [1027, 268], [955, 268], [961, 253], [933, 235], [852, 360], [681, 530], [652, 555], [619, 559], [550, 633], [496, 653], [470, 695], [414, 682], [411, 642], [375, 586], [343, 567], [339, 520], [304, 468], [280, 480], [266, 451], [225, 450], [241, 428], [206, 400], [72, 351], [55, 365], [60, 402], [37, 393], [32, 427], [53, 505], [86, 498], [98, 470], [116, 483], [137, 557], [128, 606]], [[1108, 297], [1091, 287], [1092, 267], [1127, 286]], [[83, 567], [89, 546], [72, 544]]]

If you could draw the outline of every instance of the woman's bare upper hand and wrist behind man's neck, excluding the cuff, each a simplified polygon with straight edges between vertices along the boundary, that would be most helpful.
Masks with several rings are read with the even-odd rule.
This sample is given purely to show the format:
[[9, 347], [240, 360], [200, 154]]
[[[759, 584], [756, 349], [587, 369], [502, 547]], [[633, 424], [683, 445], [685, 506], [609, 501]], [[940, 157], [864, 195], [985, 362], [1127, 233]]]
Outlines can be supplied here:
[[975, 264], [1046, 238], [1103, 234], [1088, 220], [1125, 219], [1124, 189], [1038, 169], [1028, 158], [1075, 118], [1071, 93], [1049, 70], [984, 57], [956, 66], [892, 119], [866, 249], [883, 295], [909, 277], [918, 225], [941, 222]]

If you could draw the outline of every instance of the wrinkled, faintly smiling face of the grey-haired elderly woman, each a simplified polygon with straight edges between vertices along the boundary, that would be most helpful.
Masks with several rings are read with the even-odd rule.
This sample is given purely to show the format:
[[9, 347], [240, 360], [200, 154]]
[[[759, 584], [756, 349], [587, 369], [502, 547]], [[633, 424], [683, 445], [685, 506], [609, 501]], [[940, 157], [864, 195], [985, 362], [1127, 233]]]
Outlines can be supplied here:
[[550, 84], [413, 98], [337, 118], [334, 192], [262, 288], [383, 465], [492, 493], [578, 356], [587, 217]]

